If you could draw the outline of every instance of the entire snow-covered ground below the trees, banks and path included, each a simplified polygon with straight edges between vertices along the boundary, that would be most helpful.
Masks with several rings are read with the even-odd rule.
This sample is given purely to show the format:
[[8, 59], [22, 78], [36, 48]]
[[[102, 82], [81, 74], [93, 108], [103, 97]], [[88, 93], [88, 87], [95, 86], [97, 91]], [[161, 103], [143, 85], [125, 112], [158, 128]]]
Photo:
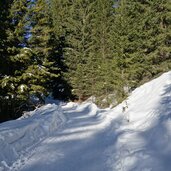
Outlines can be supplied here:
[[167, 72], [113, 109], [51, 102], [0, 124], [0, 171], [171, 171], [170, 142]]

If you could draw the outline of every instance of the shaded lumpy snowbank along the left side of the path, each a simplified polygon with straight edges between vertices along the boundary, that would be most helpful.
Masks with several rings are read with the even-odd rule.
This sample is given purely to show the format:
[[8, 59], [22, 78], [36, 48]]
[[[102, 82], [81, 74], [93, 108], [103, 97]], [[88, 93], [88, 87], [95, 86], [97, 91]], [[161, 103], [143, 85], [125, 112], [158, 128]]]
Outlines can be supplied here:
[[26, 113], [18, 120], [2, 123], [0, 125], [0, 170], [10, 166], [21, 155], [27, 153], [35, 144], [62, 126], [65, 120], [60, 106], [47, 104]]

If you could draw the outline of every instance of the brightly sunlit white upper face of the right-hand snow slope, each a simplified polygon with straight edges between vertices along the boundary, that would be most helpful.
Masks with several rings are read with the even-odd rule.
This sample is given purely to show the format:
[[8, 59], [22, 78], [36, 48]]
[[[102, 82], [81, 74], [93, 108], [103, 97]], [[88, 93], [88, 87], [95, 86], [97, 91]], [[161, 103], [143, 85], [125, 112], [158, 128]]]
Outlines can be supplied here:
[[[164, 73], [160, 77], [135, 89], [131, 96], [127, 99], [128, 108], [125, 114], [128, 115], [130, 121], [147, 120], [151, 115], [155, 116], [160, 113], [161, 103], [165, 96], [169, 96], [171, 91], [171, 72]], [[123, 102], [123, 106], [125, 102]]]

